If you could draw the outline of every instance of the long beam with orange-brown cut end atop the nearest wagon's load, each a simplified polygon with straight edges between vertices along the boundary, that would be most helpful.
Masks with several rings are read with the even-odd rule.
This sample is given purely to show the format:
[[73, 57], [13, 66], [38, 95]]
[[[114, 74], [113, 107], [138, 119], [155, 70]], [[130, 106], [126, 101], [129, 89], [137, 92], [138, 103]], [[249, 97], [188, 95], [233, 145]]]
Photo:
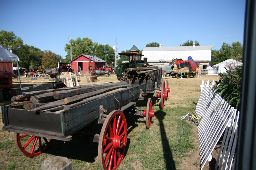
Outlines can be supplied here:
[[98, 90], [98, 91], [88, 92], [88, 93], [84, 93], [84, 94], [80, 94], [80, 95], [75, 95], [75, 96], [72, 96], [72, 97], [67, 97], [67, 98], [63, 99], [63, 102], [65, 104], [70, 104], [70, 103], [78, 102], [78, 101], [81, 101], [83, 99], [95, 96], [95, 95], [99, 95], [99, 94], [102, 94], [102, 93], [105, 93], [105, 92], [109, 92], [111, 90], [115, 90], [115, 89], [118, 89], [118, 88], [126, 88], [126, 87], [127, 87], [127, 84], [126, 85], [118, 85], [118, 86], [114, 86], [114, 87], [111, 86], [109, 88], [101, 89], [101, 90]]

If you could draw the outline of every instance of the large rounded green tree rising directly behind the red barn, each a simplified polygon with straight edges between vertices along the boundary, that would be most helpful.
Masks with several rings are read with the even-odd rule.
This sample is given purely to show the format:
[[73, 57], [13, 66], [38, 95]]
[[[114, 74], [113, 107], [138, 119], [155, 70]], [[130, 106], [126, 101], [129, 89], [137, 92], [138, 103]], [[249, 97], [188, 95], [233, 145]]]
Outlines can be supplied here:
[[[95, 49], [94, 45], [96, 45], [96, 43], [95, 42], [93, 43], [92, 40], [87, 37], [83, 39], [81, 39], [80, 37], [77, 37], [76, 40], [72, 40], [72, 59], [76, 58], [81, 54], [91, 55], [93, 53], [93, 50]], [[70, 43], [66, 44], [64, 50], [68, 52], [64, 61], [69, 62], [70, 61]]]

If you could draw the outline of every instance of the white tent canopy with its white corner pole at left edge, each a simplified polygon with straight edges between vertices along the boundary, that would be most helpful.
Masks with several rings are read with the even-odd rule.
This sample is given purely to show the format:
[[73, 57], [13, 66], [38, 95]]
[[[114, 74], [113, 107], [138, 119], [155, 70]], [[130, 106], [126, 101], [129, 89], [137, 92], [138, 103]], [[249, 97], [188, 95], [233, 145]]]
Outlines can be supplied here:
[[[19, 73], [19, 79], [20, 79], [20, 71], [19, 71], [19, 64], [18, 64], [18, 61], [20, 60], [17, 55], [13, 54], [12, 52], [0, 46], [0, 61], [2, 62], [17, 61], [17, 67], [18, 67], [18, 73]], [[21, 86], [21, 83], [20, 83], [20, 86]]]

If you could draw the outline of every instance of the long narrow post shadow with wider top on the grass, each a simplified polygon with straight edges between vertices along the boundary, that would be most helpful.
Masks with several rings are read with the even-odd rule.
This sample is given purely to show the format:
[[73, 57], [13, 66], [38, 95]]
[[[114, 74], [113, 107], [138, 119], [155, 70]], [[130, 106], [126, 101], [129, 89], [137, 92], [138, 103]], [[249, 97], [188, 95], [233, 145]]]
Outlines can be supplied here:
[[164, 116], [166, 115], [165, 112], [159, 110], [155, 112], [155, 117], [159, 120], [160, 132], [161, 132], [161, 140], [163, 145], [163, 152], [164, 152], [164, 159], [165, 159], [165, 166], [168, 170], [176, 170], [175, 162], [172, 157], [172, 150], [169, 145], [169, 140], [166, 136], [166, 131], [164, 129]]

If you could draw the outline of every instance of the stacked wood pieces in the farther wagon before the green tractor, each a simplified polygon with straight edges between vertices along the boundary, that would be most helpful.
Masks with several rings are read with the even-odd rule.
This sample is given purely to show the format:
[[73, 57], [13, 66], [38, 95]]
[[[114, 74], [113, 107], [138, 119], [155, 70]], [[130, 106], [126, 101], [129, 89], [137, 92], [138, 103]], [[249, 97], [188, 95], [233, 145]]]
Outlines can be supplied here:
[[124, 70], [126, 80], [152, 80], [153, 72], [162, 69], [161, 67], [149, 66], [140, 68], [128, 68]]

